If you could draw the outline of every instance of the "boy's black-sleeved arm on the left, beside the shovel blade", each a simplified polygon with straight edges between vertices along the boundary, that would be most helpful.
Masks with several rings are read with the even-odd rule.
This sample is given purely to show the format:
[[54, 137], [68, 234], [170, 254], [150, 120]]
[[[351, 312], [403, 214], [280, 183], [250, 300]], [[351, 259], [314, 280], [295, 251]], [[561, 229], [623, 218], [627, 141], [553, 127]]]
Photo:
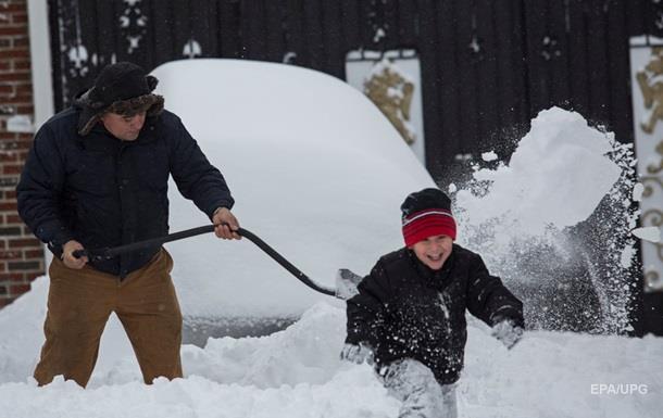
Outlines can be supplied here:
[[347, 344], [363, 343], [375, 347], [385, 325], [385, 304], [388, 300], [387, 277], [378, 262], [371, 274], [359, 283], [359, 294], [347, 301]]

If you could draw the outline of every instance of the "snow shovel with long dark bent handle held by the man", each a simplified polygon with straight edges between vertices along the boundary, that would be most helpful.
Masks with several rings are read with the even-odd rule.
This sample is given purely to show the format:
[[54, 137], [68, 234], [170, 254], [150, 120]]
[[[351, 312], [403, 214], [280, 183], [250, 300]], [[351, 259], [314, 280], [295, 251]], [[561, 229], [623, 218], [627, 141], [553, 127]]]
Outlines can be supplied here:
[[[186, 229], [184, 231], [174, 232], [167, 235], [165, 237], [153, 238], [150, 240], [134, 242], [126, 245], [120, 245], [114, 248], [107, 249], [98, 249], [98, 250], [76, 250], [74, 251], [74, 256], [76, 258], [80, 258], [83, 256], [87, 256], [89, 259], [93, 261], [102, 261], [102, 259], [111, 259], [120, 254], [130, 253], [137, 250], [143, 250], [150, 246], [157, 246], [164, 244], [171, 241], [177, 241], [185, 238], [196, 237], [202, 233], [209, 233], [214, 231], [214, 225], [205, 225], [202, 227]], [[338, 270], [336, 275], [336, 289], [327, 288], [325, 286], [318, 284], [315, 281], [311, 280], [309, 276], [304, 275], [299, 268], [295, 267], [290, 262], [288, 262], [283, 255], [280, 255], [276, 250], [270, 246], [266, 242], [261, 240], [253, 232], [248, 231], [243, 228], [239, 228], [237, 231], [239, 236], [245, 237], [249, 241], [253, 242], [258, 248], [264, 251], [270, 257], [272, 257], [276, 263], [280, 264], [286, 270], [288, 270], [292, 276], [299, 279], [302, 283], [307, 284], [309, 288], [315, 290], [316, 292], [327, 294], [330, 296], [335, 296], [341, 300], [347, 300], [352, 297], [358, 293], [356, 284], [361, 281], [361, 277], [353, 274], [352, 271], [341, 268]]]

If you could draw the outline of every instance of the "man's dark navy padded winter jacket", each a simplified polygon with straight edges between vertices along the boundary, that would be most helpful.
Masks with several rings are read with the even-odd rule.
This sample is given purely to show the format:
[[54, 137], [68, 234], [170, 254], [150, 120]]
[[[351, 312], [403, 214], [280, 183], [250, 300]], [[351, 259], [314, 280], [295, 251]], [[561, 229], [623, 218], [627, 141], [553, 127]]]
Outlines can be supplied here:
[[[65, 110], [39, 129], [16, 187], [21, 217], [57, 256], [72, 239], [103, 249], [167, 235], [168, 175], [210, 218], [233, 206], [224, 177], [175, 114], [148, 117], [138, 139], [121, 141], [102, 124], [77, 134], [79, 113]], [[90, 264], [125, 277], [159, 249]]]

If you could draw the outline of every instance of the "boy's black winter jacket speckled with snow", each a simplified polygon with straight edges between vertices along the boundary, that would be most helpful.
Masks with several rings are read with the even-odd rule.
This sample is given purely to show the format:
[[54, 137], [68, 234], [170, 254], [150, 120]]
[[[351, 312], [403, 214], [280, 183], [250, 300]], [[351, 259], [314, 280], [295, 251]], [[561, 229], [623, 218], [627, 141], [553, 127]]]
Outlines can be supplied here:
[[383, 256], [348, 300], [347, 343], [368, 343], [376, 367], [399, 358], [428, 366], [436, 379], [456, 381], [467, 340], [465, 309], [489, 326], [510, 318], [524, 326], [523, 304], [481, 257], [458, 244], [431, 270], [411, 250]]

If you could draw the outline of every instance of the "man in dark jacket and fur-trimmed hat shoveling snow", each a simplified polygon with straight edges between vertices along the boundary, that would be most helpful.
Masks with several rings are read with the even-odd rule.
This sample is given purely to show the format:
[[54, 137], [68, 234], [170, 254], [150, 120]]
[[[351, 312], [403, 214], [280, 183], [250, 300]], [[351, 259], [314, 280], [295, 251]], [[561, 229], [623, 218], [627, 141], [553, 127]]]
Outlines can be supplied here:
[[161, 245], [116, 258], [76, 256], [163, 236], [172, 175], [214, 225], [239, 239], [234, 200], [179, 117], [152, 93], [157, 78], [121, 62], [105, 66], [75, 105], [37, 132], [16, 188], [18, 212], [53, 252], [40, 385], [58, 375], [88, 383], [104, 326], [122, 321], [146, 383], [183, 376], [182, 314]]

